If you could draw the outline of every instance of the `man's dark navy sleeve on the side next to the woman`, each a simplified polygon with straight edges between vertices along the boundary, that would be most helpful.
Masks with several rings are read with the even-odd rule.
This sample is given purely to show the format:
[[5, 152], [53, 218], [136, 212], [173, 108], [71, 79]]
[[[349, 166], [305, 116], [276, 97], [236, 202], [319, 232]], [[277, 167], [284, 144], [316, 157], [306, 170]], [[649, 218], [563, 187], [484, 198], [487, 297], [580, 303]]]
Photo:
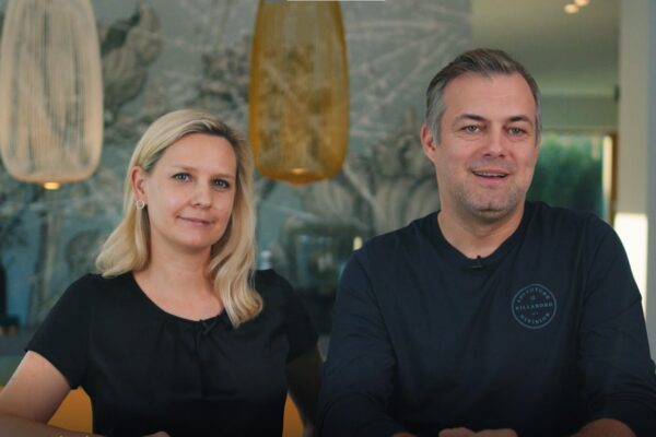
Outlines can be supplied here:
[[356, 252], [337, 294], [319, 394], [319, 436], [391, 436], [405, 430], [386, 413], [396, 361], [378, 308]]

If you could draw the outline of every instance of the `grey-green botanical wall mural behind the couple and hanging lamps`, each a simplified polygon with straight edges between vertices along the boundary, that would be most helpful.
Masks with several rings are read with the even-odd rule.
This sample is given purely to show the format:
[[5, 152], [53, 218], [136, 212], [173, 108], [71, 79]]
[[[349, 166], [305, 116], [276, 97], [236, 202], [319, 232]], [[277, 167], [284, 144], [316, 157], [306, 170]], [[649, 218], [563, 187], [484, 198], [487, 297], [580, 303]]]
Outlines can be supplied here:
[[[94, 1], [105, 88], [105, 141], [90, 179], [58, 191], [17, 182], [0, 165], [0, 260], [8, 312], [36, 324], [66, 286], [93, 271], [118, 222], [132, 147], [160, 115], [209, 109], [247, 132], [248, 59], [257, 1]], [[4, 10], [4, 1], [0, 1]], [[342, 2], [350, 67], [350, 150], [328, 181], [257, 178], [260, 264], [329, 298], [363, 238], [436, 209], [419, 144], [431, 76], [469, 46], [469, 1]], [[1, 307], [1, 306], [0, 306]], [[317, 316], [319, 317], [319, 316]]]

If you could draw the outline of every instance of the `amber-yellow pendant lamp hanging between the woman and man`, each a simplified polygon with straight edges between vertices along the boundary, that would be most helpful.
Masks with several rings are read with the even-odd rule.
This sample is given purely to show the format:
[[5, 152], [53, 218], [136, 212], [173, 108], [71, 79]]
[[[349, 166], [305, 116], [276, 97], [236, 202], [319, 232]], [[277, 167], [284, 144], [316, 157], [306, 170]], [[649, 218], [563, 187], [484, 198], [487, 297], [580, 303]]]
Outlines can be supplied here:
[[349, 140], [339, 2], [260, 0], [249, 93], [250, 142], [262, 176], [305, 184], [339, 172]]

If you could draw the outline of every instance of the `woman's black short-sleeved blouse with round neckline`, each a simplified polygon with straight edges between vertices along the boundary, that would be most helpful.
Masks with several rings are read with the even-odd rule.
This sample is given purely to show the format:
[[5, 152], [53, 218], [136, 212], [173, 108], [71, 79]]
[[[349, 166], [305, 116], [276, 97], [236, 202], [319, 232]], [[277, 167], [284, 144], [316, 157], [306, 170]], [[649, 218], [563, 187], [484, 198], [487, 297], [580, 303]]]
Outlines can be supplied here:
[[285, 365], [317, 334], [290, 284], [258, 271], [263, 310], [232, 328], [227, 315], [188, 320], [157, 307], [132, 273], [74, 282], [27, 345], [71, 388], [82, 386], [94, 433], [280, 436]]

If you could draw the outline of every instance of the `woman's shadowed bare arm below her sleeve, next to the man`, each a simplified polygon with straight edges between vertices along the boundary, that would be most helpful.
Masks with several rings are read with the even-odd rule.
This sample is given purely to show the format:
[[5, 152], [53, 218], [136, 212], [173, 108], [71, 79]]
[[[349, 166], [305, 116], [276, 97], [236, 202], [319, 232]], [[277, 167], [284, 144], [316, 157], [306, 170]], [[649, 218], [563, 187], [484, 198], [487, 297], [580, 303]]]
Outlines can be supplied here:
[[304, 435], [314, 435], [321, 379], [321, 355], [318, 347], [315, 346], [288, 363], [286, 377], [290, 395], [303, 421]]

